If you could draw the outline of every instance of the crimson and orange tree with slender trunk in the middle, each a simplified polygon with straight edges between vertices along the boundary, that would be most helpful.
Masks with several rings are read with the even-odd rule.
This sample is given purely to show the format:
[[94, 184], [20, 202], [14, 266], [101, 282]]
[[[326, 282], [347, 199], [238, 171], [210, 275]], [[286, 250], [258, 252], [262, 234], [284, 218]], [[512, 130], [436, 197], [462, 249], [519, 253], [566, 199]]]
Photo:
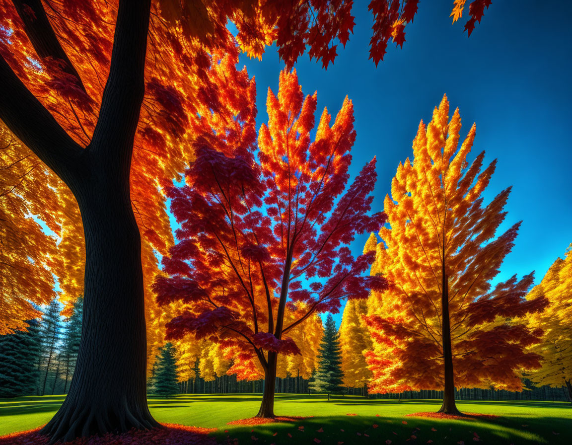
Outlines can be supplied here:
[[278, 96], [268, 91], [257, 160], [255, 84], [241, 82], [236, 118], [204, 117], [186, 185], [167, 190], [181, 228], [155, 290], [160, 304], [188, 305], [168, 323], [169, 339], [194, 332], [257, 357], [258, 416], [272, 417], [277, 355], [300, 353], [287, 334], [316, 312], [338, 311], [342, 299], [384, 288], [382, 277], [362, 276], [373, 254], [354, 258], [347, 247], [384, 216], [367, 214], [375, 159], [344, 192], [355, 140], [347, 98], [332, 126], [324, 110], [311, 142], [316, 94], [304, 100], [296, 71], [282, 71]]

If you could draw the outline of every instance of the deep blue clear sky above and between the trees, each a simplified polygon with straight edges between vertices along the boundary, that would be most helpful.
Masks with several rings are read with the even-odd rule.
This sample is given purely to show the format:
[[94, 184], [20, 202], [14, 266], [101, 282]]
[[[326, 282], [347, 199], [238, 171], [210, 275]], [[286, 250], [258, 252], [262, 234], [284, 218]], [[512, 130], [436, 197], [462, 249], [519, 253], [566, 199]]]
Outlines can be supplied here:
[[[462, 134], [476, 122], [472, 155], [498, 158], [485, 193], [491, 200], [509, 185], [506, 229], [523, 221], [499, 279], [536, 271], [537, 283], [572, 243], [572, 2], [494, 1], [467, 38], [466, 18], [451, 25], [451, 1], [421, 1], [406, 27], [403, 49], [390, 42], [385, 60], [368, 60], [372, 15], [358, 0], [354, 33], [327, 71], [303, 55], [296, 64], [304, 93], [318, 93], [335, 116], [346, 95], [355, 108], [358, 133], [352, 176], [378, 156], [374, 209], [381, 210], [399, 161], [411, 156], [419, 120], [446, 93], [459, 108]], [[263, 60], [241, 57], [256, 76], [260, 126], [267, 120], [267, 88], [277, 91], [284, 64], [275, 48]], [[362, 251], [362, 237], [352, 245]], [[337, 324], [341, 314], [335, 316]]]

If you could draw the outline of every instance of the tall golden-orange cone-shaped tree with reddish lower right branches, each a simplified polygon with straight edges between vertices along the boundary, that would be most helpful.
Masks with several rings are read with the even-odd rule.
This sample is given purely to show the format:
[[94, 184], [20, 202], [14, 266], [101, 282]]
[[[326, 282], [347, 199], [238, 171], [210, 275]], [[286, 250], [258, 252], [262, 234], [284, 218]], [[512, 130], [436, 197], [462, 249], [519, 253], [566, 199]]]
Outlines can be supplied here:
[[439, 412], [458, 413], [455, 384], [522, 390], [521, 369], [541, 359], [526, 348], [542, 332], [517, 317], [545, 299], [525, 299], [532, 274], [491, 287], [521, 223], [497, 236], [510, 188], [483, 204], [496, 161], [482, 170], [482, 152], [468, 164], [475, 125], [458, 146], [459, 112], [450, 121], [448, 112], [444, 96], [419, 124], [413, 159], [399, 164], [384, 201], [390, 227], [379, 231], [371, 273], [392, 284], [371, 297], [367, 356], [373, 392], [441, 388]]

